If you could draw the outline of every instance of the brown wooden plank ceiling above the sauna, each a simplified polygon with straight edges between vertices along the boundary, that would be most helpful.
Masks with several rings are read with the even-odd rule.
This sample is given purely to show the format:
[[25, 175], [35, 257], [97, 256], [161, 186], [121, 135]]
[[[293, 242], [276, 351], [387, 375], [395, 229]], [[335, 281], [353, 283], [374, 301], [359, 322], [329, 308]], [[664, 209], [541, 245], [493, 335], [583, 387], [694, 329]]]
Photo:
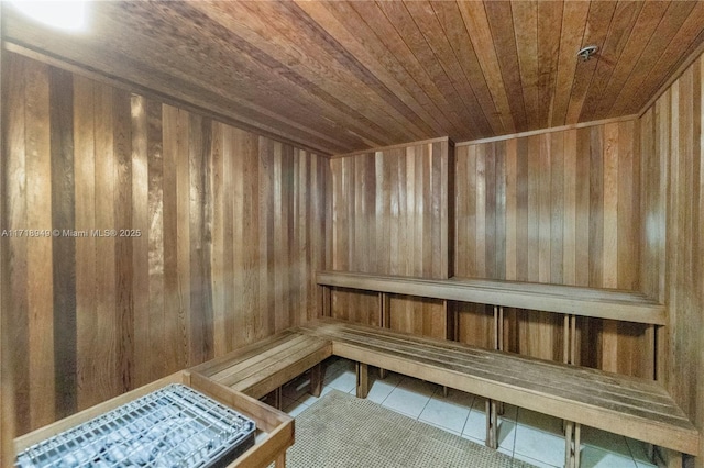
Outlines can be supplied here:
[[322, 153], [632, 114], [704, 41], [697, 1], [97, 1], [80, 34], [3, 7], [14, 46]]

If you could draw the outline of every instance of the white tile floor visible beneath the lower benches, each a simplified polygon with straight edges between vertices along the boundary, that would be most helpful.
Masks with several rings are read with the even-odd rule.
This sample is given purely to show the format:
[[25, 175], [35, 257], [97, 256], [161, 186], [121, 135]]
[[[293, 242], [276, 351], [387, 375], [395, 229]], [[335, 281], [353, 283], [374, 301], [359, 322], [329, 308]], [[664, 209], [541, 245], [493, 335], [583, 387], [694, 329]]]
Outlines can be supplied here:
[[[458, 390], [447, 398], [442, 388], [397, 374], [378, 378], [376, 368], [370, 368], [372, 388], [369, 399], [415, 420], [432, 424], [444, 431], [484, 444], [485, 401]], [[354, 363], [330, 358], [326, 363], [322, 394], [331, 389], [355, 393]], [[283, 406], [296, 416], [317, 398], [308, 393], [308, 380], [301, 376], [283, 388]], [[499, 416], [498, 450], [538, 467], [564, 465], [562, 422], [529, 410], [505, 405]], [[654, 467], [646, 455], [646, 445], [615, 434], [582, 426], [582, 467], [645, 468]]]

